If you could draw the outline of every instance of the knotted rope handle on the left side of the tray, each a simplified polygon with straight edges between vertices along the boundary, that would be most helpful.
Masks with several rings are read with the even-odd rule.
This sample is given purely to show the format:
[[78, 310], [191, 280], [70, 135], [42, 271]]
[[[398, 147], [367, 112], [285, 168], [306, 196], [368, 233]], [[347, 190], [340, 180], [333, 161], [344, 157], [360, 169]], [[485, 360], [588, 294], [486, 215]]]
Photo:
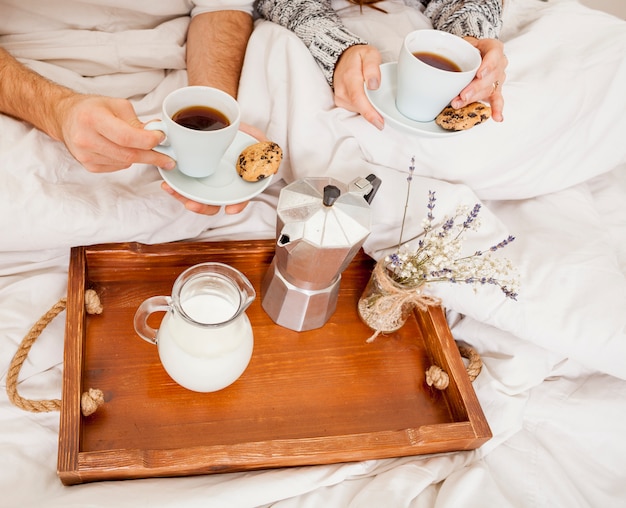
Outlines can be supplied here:
[[[28, 334], [22, 339], [7, 373], [7, 395], [9, 400], [20, 409], [30, 411], [32, 413], [46, 413], [61, 410], [61, 400], [29, 400], [22, 397], [17, 391], [17, 378], [19, 376], [22, 365], [28, 357], [31, 347], [41, 335], [41, 332], [50, 324], [50, 322], [65, 310], [67, 299], [61, 298], [55, 303], [48, 312], [39, 318], [33, 325]], [[93, 289], [85, 291], [85, 309], [87, 314], [102, 314], [102, 304], [98, 294]], [[84, 416], [89, 416], [97, 411], [104, 404], [104, 394], [101, 390], [89, 388], [81, 395], [80, 407]]]

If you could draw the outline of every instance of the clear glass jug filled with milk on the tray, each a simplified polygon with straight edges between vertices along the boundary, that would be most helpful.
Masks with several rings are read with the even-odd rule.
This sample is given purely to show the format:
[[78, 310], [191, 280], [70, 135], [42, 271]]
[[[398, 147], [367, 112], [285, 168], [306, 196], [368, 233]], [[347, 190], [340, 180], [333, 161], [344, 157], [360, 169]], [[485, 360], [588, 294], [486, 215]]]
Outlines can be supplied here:
[[[182, 272], [171, 296], [146, 299], [135, 313], [135, 331], [158, 348], [166, 372], [181, 386], [214, 392], [245, 371], [253, 334], [245, 310], [256, 293], [250, 281], [222, 263], [202, 263]], [[160, 328], [147, 320], [165, 312]]]

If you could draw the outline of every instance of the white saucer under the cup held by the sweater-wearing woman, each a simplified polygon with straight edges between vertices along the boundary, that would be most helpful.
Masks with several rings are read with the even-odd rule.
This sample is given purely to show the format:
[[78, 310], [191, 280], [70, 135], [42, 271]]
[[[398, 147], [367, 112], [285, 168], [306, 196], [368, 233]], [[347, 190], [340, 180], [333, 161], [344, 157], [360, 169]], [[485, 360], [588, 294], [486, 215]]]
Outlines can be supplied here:
[[439, 127], [435, 121], [416, 122], [404, 116], [396, 107], [396, 62], [384, 63], [380, 66], [380, 87], [365, 93], [374, 108], [394, 127], [425, 137], [446, 137], [460, 134], [463, 131], [447, 131]]

